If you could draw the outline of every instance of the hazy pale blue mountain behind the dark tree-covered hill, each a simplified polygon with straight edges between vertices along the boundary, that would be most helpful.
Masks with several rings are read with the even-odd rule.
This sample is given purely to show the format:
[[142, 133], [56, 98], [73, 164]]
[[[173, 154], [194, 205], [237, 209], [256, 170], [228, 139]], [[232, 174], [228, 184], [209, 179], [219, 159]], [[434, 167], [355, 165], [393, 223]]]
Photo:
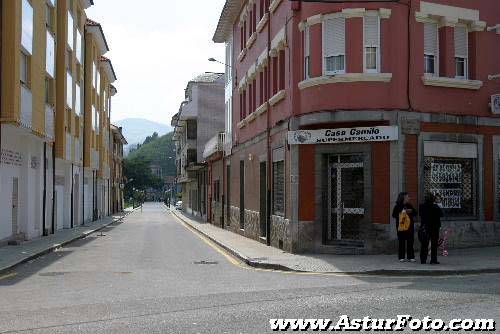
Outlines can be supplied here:
[[130, 147], [135, 147], [137, 144], [144, 142], [146, 137], [151, 136], [154, 132], [162, 136], [172, 131], [172, 127], [166, 124], [144, 118], [125, 118], [114, 122], [114, 124], [123, 128], [123, 135], [128, 142], [128, 147], [125, 147], [126, 152], [130, 150]]

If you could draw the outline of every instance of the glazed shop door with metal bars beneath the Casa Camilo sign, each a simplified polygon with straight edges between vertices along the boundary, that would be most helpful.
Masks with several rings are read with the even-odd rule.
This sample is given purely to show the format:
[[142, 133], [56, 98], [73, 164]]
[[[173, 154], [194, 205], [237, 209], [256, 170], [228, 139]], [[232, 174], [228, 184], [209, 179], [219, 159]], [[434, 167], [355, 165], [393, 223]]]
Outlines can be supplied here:
[[363, 155], [328, 158], [327, 241], [361, 241], [365, 215]]

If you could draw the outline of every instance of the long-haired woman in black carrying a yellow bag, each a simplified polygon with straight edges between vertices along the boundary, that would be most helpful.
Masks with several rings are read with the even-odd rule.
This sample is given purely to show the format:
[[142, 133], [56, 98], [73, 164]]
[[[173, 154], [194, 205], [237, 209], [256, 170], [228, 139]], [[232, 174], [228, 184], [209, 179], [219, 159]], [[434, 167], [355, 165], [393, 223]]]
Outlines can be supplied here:
[[[410, 228], [408, 231], [398, 231], [399, 214], [403, 210], [410, 217]], [[414, 219], [417, 216], [417, 210], [410, 204], [410, 195], [406, 192], [400, 193], [396, 205], [392, 210], [392, 217], [396, 220], [396, 231], [398, 231], [399, 240], [399, 262], [405, 261], [405, 251], [408, 261], [415, 262], [415, 251], [413, 250], [413, 240], [415, 234]]]

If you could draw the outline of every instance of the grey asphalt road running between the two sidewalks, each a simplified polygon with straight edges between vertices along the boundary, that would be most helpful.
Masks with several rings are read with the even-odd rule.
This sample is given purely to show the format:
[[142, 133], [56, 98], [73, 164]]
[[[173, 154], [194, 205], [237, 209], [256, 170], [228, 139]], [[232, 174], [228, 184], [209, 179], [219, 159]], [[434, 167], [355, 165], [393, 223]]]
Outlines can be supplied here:
[[267, 333], [270, 318], [500, 320], [500, 275], [345, 277], [246, 268], [160, 204], [0, 277], [0, 333]]

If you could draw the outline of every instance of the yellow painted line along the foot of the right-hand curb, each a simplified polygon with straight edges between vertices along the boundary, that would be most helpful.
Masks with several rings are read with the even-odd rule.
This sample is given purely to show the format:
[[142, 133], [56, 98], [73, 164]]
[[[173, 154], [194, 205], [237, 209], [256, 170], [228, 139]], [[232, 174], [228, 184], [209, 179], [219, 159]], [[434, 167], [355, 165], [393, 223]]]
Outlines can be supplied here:
[[[184, 222], [182, 219], [177, 217], [176, 214], [173, 214], [172, 212], [169, 212], [170, 215], [172, 215], [182, 226], [184, 226], [186, 229], [191, 231], [193, 234], [195, 234], [198, 238], [200, 238], [203, 242], [205, 242], [208, 246], [213, 248], [217, 253], [223, 255], [232, 265], [246, 269], [246, 270], [253, 270], [253, 271], [260, 271], [260, 272], [272, 272], [272, 273], [279, 273], [279, 274], [285, 274], [285, 275], [307, 275], [307, 276], [334, 276], [334, 277], [352, 277], [352, 278], [392, 278], [392, 279], [419, 279], [422, 277], [426, 278], [457, 278], [457, 277], [471, 277], [471, 276], [481, 276], [481, 275], [488, 275], [488, 274], [461, 274], [461, 275], [378, 275], [378, 274], [349, 274], [349, 273], [328, 273], [328, 272], [300, 272], [300, 271], [285, 271], [285, 270], [278, 270], [278, 269], [265, 269], [265, 268], [257, 268], [257, 267], [252, 267], [245, 262], [241, 261], [240, 259], [236, 258], [234, 255], [230, 254], [227, 250], [222, 248], [221, 246], [217, 245], [215, 242], [210, 240], [209, 238], [205, 237], [200, 231], [195, 229], [194, 227], [190, 226], [186, 222]], [[492, 274], [492, 275], [497, 275], [497, 274]]]

